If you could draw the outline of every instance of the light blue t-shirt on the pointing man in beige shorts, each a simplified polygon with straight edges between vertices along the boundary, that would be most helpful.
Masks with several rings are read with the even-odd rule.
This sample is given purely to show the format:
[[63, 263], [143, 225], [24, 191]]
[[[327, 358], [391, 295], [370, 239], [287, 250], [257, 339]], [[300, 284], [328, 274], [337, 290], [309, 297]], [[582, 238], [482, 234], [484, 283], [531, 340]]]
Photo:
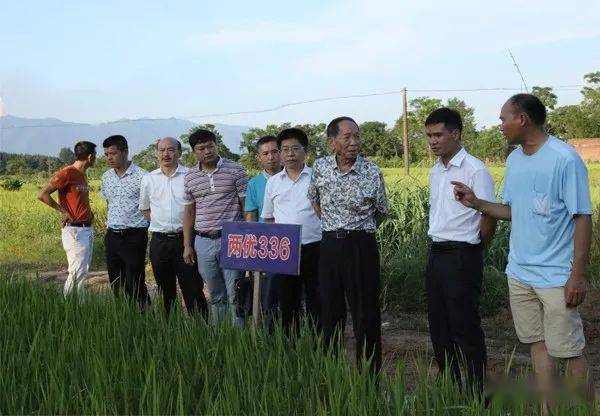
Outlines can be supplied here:
[[502, 195], [511, 206], [506, 274], [532, 287], [561, 287], [573, 264], [575, 214], [591, 214], [585, 164], [572, 146], [548, 136], [533, 155], [506, 160]]

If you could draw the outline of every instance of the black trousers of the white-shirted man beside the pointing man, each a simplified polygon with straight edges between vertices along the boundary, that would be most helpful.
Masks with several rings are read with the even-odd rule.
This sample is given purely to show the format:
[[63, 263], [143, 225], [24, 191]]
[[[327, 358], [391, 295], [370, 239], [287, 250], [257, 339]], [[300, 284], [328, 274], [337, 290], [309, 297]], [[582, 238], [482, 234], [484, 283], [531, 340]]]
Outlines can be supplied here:
[[426, 272], [429, 333], [440, 371], [483, 391], [487, 354], [479, 317], [483, 249], [465, 243], [433, 243]]

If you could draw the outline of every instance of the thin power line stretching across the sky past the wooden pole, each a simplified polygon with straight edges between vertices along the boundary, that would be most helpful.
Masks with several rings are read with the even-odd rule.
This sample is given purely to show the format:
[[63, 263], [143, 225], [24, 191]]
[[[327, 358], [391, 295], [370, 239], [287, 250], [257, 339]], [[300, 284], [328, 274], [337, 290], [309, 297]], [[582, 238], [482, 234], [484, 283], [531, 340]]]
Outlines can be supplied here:
[[[555, 91], [573, 91], [584, 87], [585, 85], [573, 84], [573, 85], [556, 85], [550, 86]], [[450, 89], [407, 89], [408, 92], [412, 93], [449, 93], [449, 92], [495, 92], [495, 91], [521, 91], [521, 88], [515, 87], [492, 87], [492, 88], [450, 88]], [[174, 118], [177, 119], [201, 119], [201, 118], [209, 118], [209, 117], [225, 117], [225, 116], [236, 116], [236, 115], [245, 115], [245, 114], [260, 114], [260, 113], [269, 113], [278, 110], [282, 110], [288, 107], [295, 107], [304, 104], [312, 104], [319, 102], [327, 102], [327, 101], [338, 101], [338, 100], [347, 100], [347, 99], [356, 99], [356, 98], [368, 98], [368, 97], [379, 97], [385, 95], [400, 95], [402, 94], [402, 90], [391, 90], [391, 91], [383, 91], [383, 92], [373, 92], [373, 93], [365, 93], [365, 94], [353, 94], [353, 95], [339, 95], [332, 97], [323, 97], [323, 98], [314, 98], [302, 101], [293, 101], [289, 103], [279, 104], [272, 107], [255, 109], [255, 110], [243, 110], [243, 111], [231, 111], [231, 112], [223, 112], [223, 113], [206, 113], [199, 115], [188, 115], [188, 116], [180, 116], [180, 117], [163, 117], [163, 118], [150, 118], [150, 117], [142, 117], [136, 119], [125, 119], [110, 122], [110, 124], [114, 123], [134, 123], [138, 121], [161, 121], [161, 120], [171, 120]], [[109, 123], [99, 123], [99, 124], [109, 124]], [[13, 126], [5, 126], [0, 124], [1, 130], [8, 129], [22, 129], [22, 128], [42, 128], [42, 127], [73, 127], [77, 125], [90, 125], [89, 123], [75, 123], [75, 122], [64, 122], [62, 124], [32, 124], [32, 125], [13, 125]]]

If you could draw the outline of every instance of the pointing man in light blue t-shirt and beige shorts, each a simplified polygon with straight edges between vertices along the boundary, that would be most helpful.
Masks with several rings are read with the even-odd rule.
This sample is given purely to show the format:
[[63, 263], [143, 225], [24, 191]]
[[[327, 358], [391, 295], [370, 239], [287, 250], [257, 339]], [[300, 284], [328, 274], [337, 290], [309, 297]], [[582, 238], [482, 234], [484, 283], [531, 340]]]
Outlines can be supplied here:
[[530, 344], [538, 385], [549, 394], [554, 358], [588, 389], [589, 368], [577, 306], [587, 292], [592, 207], [585, 164], [572, 146], [544, 130], [546, 109], [530, 94], [511, 97], [500, 112], [511, 145], [502, 203], [478, 199], [462, 183], [454, 194], [465, 206], [512, 221], [508, 276], [519, 340]]

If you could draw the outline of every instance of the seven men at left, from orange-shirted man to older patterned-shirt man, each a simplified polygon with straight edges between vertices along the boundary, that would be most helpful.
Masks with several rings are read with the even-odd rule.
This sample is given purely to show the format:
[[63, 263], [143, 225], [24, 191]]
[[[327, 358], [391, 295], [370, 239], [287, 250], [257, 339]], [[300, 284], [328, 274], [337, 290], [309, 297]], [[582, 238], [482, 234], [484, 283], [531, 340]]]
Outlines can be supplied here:
[[[297, 128], [258, 141], [263, 171], [249, 180], [244, 167], [219, 156], [217, 138], [196, 130], [189, 144], [198, 163], [179, 163], [182, 145], [165, 137], [156, 144], [160, 167], [146, 172], [128, 155], [123, 136], [104, 140], [110, 169], [102, 175], [101, 196], [107, 201], [105, 254], [115, 292], [124, 292], [142, 308], [150, 303], [145, 283], [145, 256], [150, 263], [167, 314], [176, 300], [176, 282], [191, 314], [211, 322], [236, 313], [236, 285], [242, 272], [220, 265], [224, 222], [263, 221], [301, 225], [300, 275], [262, 278], [262, 305], [267, 327], [278, 320], [288, 335], [306, 317], [322, 333], [327, 349], [338, 350], [346, 320], [352, 314], [357, 359], [381, 366], [379, 252], [377, 224], [388, 206], [380, 169], [359, 155], [357, 123], [339, 117], [327, 127], [334, 155], [306, 164], [308, 137]], [[86, 170], [96, 158], [95, 145], [75, 145], [77, 160], [56, 172], [39, 199], [57, 210], [63, 221], [63, 246], [69, 272], [64, 293], [83, 290], [93, 249], [93, 215]], [[51, 196], [58, 191], [59, 202]], [[321, 259], [325, 259], [324, 261]], [[208, 288], [208, 302], [203, 288]], [[210, 306], [210, 307], [209, 307]], [[210, 309], [210, 310], [209, 310]]]

